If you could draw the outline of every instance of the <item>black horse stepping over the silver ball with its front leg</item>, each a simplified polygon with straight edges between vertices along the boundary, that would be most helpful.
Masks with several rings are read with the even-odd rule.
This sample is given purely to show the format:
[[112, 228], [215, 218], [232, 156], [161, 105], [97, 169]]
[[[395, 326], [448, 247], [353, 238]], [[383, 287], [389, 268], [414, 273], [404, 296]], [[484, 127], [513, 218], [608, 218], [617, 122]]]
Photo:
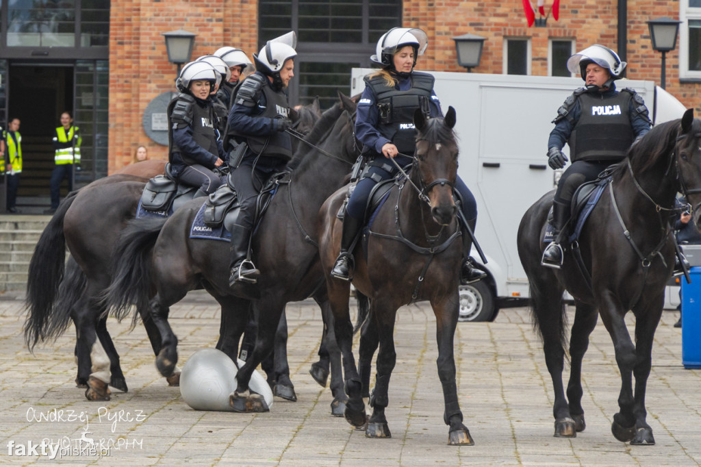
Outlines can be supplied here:
[[[313, 296], [322, 312], [330, 313], [312, 235], [321, 204], [343, 184], [358, 156], [354, 111], [355, 103], [340, 95], [306, 137], [309, 144], [301, 144], [290, 161], [294, 167], [290, 182], [280, 184], [252, 241], [254, 262], [262, 273], [252, 290], [239, 291], [237, 297], [229, 288], [228, 243], [189, 238], [189, 226], [201, 203], [184, 205], [165, 222], [139, 222], [128, 228], [117, 247], [108, 304], [118, 315], [128, 313], [131, 304], [149, 309], [161, 331], [163, 346], [156, 358], [161, 374], [171, 374], [177, 362], [177, 337], [168, 324], [168, 309], [188, 290], [202, 285], [222, 304], [222, 316], [226, 315], [229, 325], [225, 340], [240, 336], [248, 304], [257, 314], [258, 339], [237, 374], [238, 388], [231, 403], [240, 412], [268, 410], [259, 395], [250, 393], [248, 382], [271, 351], [285, 304]], [[332, 371], [332, 406], [345, 402], [341, 387], [340, 377], [334, 379]]]

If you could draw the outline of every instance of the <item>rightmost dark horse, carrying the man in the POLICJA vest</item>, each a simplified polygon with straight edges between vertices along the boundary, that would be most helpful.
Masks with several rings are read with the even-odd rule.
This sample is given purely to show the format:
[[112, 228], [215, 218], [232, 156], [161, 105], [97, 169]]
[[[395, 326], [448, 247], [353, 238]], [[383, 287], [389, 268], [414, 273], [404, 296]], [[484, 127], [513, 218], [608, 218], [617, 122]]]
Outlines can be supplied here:
[[[571, 245], [567, 245], [559, 271], [540, 265], [552, 192], [524, 214], [517, 237], [519, 257], [529, 278], [533, 321], [543, 339], [554, 386], [556, 437], [573, 438], [585, 428], [582, 359], [601, 315], [621, 374], [620, 410], [613, 416], [611, 431], [617, 440], [632, 445], [655, 444], [646, 422], [645, 391], [665, 285], [674, 267], [669, 218], [675, 214], [679, 191], [693, 207], [695, 225], [701, 225], [700, 143], [701, 121], [688, 110], [681, 120], [656, 126], [629, 149], [578, 238], [583, 268]], [[562, 383], [567, 341], [564, 290], [576, 303], [566, 396]], [[624, 320], [629, 310], [635, 316], [635, 342]]]

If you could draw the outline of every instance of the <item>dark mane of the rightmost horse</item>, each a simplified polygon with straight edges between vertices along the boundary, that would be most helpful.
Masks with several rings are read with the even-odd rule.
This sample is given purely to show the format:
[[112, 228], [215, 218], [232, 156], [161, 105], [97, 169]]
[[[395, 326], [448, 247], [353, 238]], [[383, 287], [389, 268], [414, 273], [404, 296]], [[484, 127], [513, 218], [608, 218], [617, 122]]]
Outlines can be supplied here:
[[[681, 128], [681, 119], [666, 121], [653, 127], [640, 141], [628, 149], [627, 156], [634, 170], [645, 172], [653, 168], [661, 158], [672, 154], [676, 137]], [[621, 164], [617, 172], [622, 172], [626, 164]]]

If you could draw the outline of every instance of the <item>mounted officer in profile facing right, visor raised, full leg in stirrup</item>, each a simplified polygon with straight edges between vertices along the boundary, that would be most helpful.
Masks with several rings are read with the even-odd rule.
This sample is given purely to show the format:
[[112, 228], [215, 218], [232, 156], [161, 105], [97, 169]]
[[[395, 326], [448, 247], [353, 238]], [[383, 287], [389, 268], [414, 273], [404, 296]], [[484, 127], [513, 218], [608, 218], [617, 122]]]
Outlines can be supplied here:
[[238, 87], [229, 113], [226, 142], [231, 151], [231, 180], [240, 203], [231, 231], [230, 286], [239, 281], [257, 282], [260, 271], [248, 258], [256, 199], [266, 180], [292, 158], [292, 140], [285, 133], [291, 125], [290, 104], [284, 90], [294, 76], [296, 45], [297, 36], [290, 32], [268, 41], [253, 55], [256, 72]]

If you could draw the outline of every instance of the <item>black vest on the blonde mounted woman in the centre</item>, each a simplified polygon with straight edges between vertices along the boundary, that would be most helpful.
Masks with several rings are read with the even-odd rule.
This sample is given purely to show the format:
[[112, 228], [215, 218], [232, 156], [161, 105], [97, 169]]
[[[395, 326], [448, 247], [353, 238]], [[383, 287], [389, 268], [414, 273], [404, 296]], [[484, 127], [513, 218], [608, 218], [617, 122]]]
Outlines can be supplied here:
[[400, 91], [387, 86], [382, 76], [372, 79], [365, 76], [365, 84], [372, 88], [380, 113], [377, 130], [404, 154], [414, 154], [416, 150], [414, 111], [421, 109], [426, 117], [430, 115], [434, 81], [433, 75], [413, 72], [411, 88]]

